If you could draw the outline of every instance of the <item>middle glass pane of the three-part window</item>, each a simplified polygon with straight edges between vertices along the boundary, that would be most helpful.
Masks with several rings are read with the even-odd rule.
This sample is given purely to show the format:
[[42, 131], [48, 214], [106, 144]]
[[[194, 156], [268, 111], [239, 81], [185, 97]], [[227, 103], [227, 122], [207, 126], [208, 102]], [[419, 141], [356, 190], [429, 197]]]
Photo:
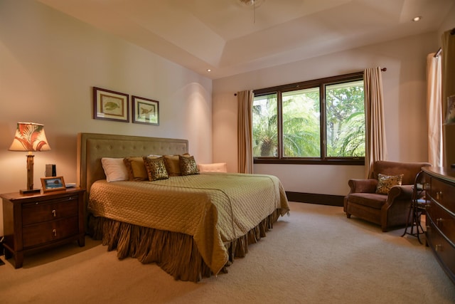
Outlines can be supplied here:
[[319, 88], [282, 94], [283, 156], [321, 156]]

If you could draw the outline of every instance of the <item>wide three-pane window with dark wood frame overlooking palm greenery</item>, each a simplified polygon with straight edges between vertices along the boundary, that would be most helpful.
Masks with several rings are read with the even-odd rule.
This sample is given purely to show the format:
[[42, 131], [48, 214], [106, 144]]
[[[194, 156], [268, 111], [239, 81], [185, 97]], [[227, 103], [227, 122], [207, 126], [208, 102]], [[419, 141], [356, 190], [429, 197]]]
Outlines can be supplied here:
[[363, 73], [255, 90], [255, 162], [363, 164]]

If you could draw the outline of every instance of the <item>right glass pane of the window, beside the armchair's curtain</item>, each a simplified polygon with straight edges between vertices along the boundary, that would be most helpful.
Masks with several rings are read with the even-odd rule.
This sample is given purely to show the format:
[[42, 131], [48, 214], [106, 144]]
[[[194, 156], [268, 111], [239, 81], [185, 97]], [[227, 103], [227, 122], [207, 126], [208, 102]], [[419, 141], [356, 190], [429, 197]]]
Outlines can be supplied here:
[[365, 157], [363, 80], [326, 85], [327, 157]]

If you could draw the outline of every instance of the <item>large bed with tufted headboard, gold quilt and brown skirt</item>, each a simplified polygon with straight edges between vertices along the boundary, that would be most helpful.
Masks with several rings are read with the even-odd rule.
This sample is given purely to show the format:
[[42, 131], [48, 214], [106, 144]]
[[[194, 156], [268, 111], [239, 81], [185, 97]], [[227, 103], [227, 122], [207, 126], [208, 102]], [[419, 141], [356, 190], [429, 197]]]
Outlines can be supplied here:
[[282, 184], [272, 175], [181, 172], [153, 182], [107, 181], [101, 159], [152, 155], [182, 158], [188, 155], [188, 141], [77, 135], [78, 184], [87, 189], [87, 232], [102, 239], [107, 250], [117, 250], [119, 259], [156, 263], [176, 280], [198, 282], [226, 273], [279, 216], [289, 214]]

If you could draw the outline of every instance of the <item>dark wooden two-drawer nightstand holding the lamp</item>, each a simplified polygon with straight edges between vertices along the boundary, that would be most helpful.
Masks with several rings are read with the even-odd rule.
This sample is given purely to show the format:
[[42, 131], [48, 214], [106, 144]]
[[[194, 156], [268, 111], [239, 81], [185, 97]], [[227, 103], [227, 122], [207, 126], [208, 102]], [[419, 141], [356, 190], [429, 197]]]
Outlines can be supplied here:
[[25, 254], [72, 241], [85, 246], [84, 194], [80, 188], [1, 194], [5, 258], [14, 256], [15, 267], [21, 268]]

